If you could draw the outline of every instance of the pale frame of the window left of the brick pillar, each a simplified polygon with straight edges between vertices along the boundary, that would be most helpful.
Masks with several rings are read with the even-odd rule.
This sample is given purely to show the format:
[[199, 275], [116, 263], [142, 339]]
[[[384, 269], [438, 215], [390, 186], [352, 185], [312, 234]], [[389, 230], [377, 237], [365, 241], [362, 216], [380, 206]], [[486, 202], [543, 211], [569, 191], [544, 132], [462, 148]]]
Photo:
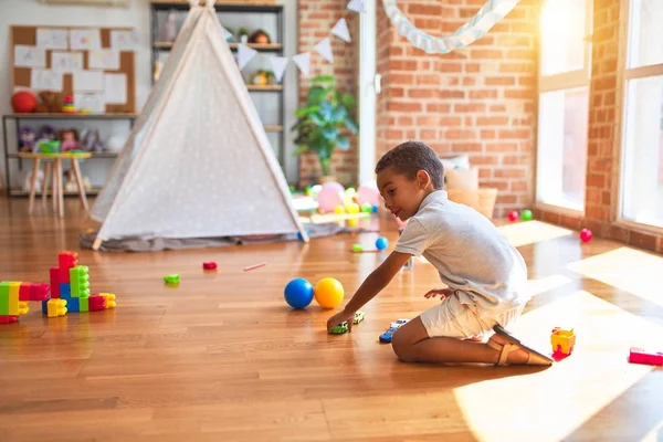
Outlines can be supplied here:
[[[586, 10], [586, 21], [585, 21], [585, 63], [582, 69], [569, 72], [562, 72], [560, 74], [552, 75], [543, 75], [543, 63], [544, 63], [544, 51], [541, 45], [539, 44], [539, 60], [538, 60], [538, 91], [537, 91], [537, 116], [536, 116], [536, 175], [535, 175], [535, 207], [540, 210], [567, 214], [570, 217], [578, 217], [585, 214], [585, 201], [582, 202], [582, 210], [576, 210], [572, 208], [550, 204], [539, 200], [539, 183], [538, 183], [538, 170], [539, 170], [539, 144], [538, 144], [538, 116], [539, 116], [539, 101], [538, 97], [540, 94], [546, 92], [556, 92], [556, 91], [570, 91], [580, 87], [587, 87], [589, 90], [590, 80], [591, 80], [591, 32], [593, 27], [593, 0], [585, 1], [585, 10]], [[541, 35], [539, 34], [539, 42], [541, 41]], [[588, 101], [591, 97], [588, 96]], [[588, 134], [589, 136], [589, 134]], [[589, 137], [588, 137], [589, 138]], [[586, 179], [587, 179], [587, 165], [586, 169]]]

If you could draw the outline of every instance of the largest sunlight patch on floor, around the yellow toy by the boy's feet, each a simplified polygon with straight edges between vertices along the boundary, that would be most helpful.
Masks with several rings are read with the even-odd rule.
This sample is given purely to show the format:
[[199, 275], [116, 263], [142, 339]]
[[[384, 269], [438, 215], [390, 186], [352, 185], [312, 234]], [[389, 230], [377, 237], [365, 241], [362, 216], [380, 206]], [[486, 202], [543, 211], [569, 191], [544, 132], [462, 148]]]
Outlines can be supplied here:
[[[467, 424], [484, 441], [557, 441], [582, 427], [653, 367], [630, 365], [631, 346], [652, 347], [663, 341], [663, 329], [594, 295], [579, 291], [524, 315], [513, 327], [516, 336], [544, 354], [550, 352], [550, 329], [573, 327], [573, 354], [547, 370], [505, 377], [456, 388], [455, 397]], [[511, 407], [485, 398], [519, 396]], [[638, 403], [633, 401], [633, 403]], [[644, 407], [644, 406], [643, 406]], [[552, 410], [541, 413], [541, 410]], [[633, 414], [638, 414], [634, 406]], [[611, 415], [620, 420], [620, 417]], [[592, 429], [597, 440], [607, 431], [627, 431], [633, 415], [613, 422], [611, 430]], [[596, 421], [592, 420], [592, 424]], [[619, 430], [617, 430], [619, 432]], [[490, 436], [487, 436], [490, 435]], [[611, 433], [620, 439], [620, 434]]]

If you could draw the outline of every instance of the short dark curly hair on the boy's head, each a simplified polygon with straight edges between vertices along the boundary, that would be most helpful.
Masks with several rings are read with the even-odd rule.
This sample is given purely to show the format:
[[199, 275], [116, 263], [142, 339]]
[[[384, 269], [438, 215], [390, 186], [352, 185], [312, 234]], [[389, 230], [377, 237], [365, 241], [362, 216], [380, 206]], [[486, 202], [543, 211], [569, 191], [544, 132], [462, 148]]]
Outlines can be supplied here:
[[376, 173], [392, 167], [397, 172], [404, 175], [408, 179], [414, 179], [417, 172], [425, 170], [433, 181], [435, 190], [444, 186], [444, 166], [438, 154], [422, 141], [406, 141], [387, 154], [376, 166]]

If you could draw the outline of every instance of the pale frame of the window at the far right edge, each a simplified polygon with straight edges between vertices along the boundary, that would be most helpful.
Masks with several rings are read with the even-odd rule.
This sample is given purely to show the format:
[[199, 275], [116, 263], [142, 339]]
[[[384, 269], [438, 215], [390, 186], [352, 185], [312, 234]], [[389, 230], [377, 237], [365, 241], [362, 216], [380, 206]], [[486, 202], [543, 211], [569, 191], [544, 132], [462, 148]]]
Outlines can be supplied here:
[[625, 171], [625, 155], [627, 155], [627, 130], [624, 124], [627, 122], [627, 93], [630, 80], [646, 78], [651, 76], [663, 75], [663, 63], [631, 67], [629, 69], [629, 49], [631, 35], [630, 21], [631, 21], [631, 3], [632, 0], [622, 0], [620, 6], [620, 29], [619, 29], [619, 52], [617, 62], [617, 108], [615, 108], [615, 134], [613, 145], [613, 170], [612, 176], [615, 179], [612, 180], [612, 194], [617, 196], [611, 201], [610, 213], [613, 223], [615, 225], [625, 229], [635, 229], [655, 234], [663, 234], [663, 228], [659, 225], [644, 224], [635, 221], [628, 220], [622, 217], [623, 211], [623, 183]]

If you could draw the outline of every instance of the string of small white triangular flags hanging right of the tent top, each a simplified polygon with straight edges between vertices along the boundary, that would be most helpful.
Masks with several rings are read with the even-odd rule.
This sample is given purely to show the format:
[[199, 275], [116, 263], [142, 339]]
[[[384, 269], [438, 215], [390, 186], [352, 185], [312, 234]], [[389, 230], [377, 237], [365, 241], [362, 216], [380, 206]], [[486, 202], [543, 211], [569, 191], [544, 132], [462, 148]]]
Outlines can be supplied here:
[[[357, 13], [364, 12], [364, 0], [350, 0], [350, 2], [347, 4], [348, 10]], [[223, 29], [223, 32], [228, 38], [228, 35], [230, 34], [228, 30]], [[332, 28], [330, 33], [332, 35], [345, 41], [346, 43], [350, 43], [352, 41], [350, 36], [350, 30], [348, 29], [348, 22], [345, 18], [341, 18], [336, 22], [334, 28]], [[332, 51], [332, 38], [324, 38], [313, 49], [329, 63], [334, 62], [334, 53]], [[253, 60], [256, 55], [257, 51], [253, 48], [249, 48], [248, 45], [241, 43], [238, 44], [238, 64], [240, 66], [240, 71], [246, 67], [251, 60]], [[299, 69], [299, 72], [302, 72], [303, 76], [309, 76], [311, 52], [302, 52], [297, 55], [293, 55], [292, 57], [270, 56], [269, 60], [272, 65], [272, 71], [274, 71], [274, 78], [277, 82], [281, 82], [281, 80], [283, 78], [283, 74], [285, 73], [285, 70], [291, 59]]]

